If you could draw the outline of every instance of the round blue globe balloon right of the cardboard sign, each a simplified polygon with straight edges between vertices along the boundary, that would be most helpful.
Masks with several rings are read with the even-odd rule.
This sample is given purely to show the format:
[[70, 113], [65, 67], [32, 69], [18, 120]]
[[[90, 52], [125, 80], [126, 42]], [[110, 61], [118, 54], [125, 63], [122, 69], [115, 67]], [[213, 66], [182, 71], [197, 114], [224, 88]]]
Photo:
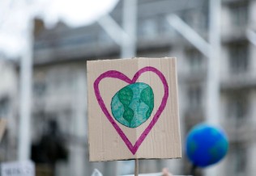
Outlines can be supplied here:
[[228, 152], [224, 131], [207, 124], [198, 124], [186, 138], [186, 154], [194, 166], [207, 167], [219, 162]]

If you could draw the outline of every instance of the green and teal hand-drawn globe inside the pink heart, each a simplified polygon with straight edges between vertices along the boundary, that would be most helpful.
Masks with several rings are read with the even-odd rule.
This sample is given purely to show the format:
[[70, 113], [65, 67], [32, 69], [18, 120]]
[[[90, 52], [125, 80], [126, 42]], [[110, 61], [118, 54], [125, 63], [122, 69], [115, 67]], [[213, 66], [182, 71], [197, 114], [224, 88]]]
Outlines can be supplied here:
[[154, 94], [151, 86], [135, 82], [114, 94], [111, 111], [118, 123], [137, 128], [147, 121], [154, 108]]

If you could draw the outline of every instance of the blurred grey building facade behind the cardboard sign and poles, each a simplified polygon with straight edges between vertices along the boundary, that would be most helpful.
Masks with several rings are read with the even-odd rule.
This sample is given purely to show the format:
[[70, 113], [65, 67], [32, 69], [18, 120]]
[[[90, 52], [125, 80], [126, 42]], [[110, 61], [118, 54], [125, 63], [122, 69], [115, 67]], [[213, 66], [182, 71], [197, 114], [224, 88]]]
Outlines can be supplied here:
[[[110, 14], [120, 26], [122, 2]], [[186, 132], [194, 124], [206, 119], [207, 57], [169, 25], [166, 15], [173, 13], [180, 16], [205, 40], [208, 39], [207, 1], [139, 0], [136, 57], [177, 57], [181, 139], [184, 146]], [[255, 13], [254, 0], [222, 2], [219, 113], [220, 126], [225, 129], [230, 140], [230, 150], [215, 175], [244, 176], [256, 173], [256, 48], [246, 36], [248, 29], [256, 31]], [[90, 175], [94, 168], [105, 176], [133, 172], [132, 161], [88, 161], [86, 61], [120, 58], [120, 55], [120, 46], [98, 23], [79, 28], [58, 23], [53, 29], [45, 29], [43, 23], [36, 20], [32, 141], [38, 144], [48, 132], [49, 122], [56, 120], [68, 153], [65, 160], [57, 161], [57, 175]], [[2, 79], [2, 73], [0, 77]], [[10, 80], [16, 82], [18, 78], [16, 75]], [[14, 87], [13, 92], [2, 93], [4, 91], [1, 84], [0, 104], [6, 104], [6, 101], [9, 103], [11, 99], [17, 103], [15, 99], [19, 86], [14, 84], [11, 87]], [[0, 105], [0, 113], [5, 113], [2, 110], [5, 106]], [[8, 106], [18, 108], [17, 104]], [[17, 122], [16, 110], [9, 111], [10, 119]], [[16, 126], [9, 127], [8, 131], [15, 134], [17, 123], [14, 124]], [[10, 139], [16, 138], [17, 136], [10, 136]], [[15, 140], [13, 143], [15, 151]], [[159, 172], [163, 167], [169, 167], [173, 174], [189, 174], [190, 164], [184, 149], [182, 150], [183, 157], [180, 160], [140, 161], [140, 172]], [[14, 157], [4, 158], [11, 160]], [[200, 171], [198, 174], [206, 175]]]

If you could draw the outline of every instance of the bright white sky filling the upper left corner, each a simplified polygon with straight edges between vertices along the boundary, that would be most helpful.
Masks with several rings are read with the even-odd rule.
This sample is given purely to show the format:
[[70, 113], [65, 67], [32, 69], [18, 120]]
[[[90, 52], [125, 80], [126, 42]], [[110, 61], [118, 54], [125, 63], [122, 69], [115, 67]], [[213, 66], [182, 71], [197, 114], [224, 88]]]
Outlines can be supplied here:
[[[47, 27], [59, 20], [70, 27], [85, 26], [109, 13], [118, 0], [0, 0], [0, 53], [19, 57], [26, 45], [32, 17], [44, 19]], [[0, 58], [1, 59], [1, 58]]]

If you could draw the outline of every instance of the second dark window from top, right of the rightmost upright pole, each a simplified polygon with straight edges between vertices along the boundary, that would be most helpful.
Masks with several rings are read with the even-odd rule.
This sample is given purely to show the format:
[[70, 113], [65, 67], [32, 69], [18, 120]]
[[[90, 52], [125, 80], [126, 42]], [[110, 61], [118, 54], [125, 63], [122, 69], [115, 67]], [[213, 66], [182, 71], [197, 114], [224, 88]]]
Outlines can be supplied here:
[[244, 73], [248, 69], [247, 44], [232, 44], [230, 46], [230, 70], [232, 73]]

